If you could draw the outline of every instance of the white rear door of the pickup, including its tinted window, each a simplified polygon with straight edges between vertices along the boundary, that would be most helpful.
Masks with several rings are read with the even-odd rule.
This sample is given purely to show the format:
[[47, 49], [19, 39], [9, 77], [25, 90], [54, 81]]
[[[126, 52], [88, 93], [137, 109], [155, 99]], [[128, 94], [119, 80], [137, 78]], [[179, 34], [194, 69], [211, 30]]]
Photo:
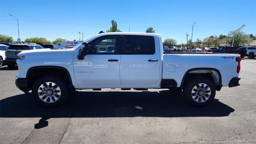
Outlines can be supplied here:
[[160, 53], [154, 36], [122, 36], [121, 85], [153, 85], [160, 78]]

